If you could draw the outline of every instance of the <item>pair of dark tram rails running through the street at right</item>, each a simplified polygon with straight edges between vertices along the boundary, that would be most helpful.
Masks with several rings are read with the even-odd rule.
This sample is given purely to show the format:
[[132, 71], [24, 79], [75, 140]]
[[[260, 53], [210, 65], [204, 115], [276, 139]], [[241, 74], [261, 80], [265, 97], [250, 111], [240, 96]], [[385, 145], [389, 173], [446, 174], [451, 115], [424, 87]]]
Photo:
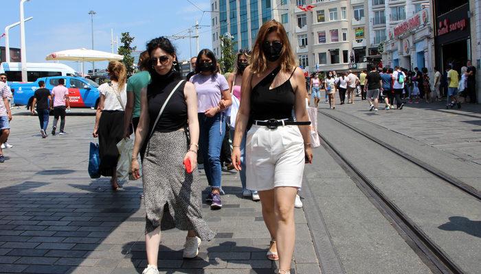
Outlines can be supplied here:
[[[338, 123], [341, 123], [358, 134], [361, 134], [361, 136], [364, 136], [373, 142], [377, 142], [377, 144], [381, 147], [384, 147], [385, 149], [392, 151], [392, 153], [399, 155], [401, 158], [416, 164], [416, 166], [421, 167], [421, 169], [427, 171], [428, 173], [436, 175], [436, 177], [443, 179], [445, 182], [448, 182], [459, 190], [462, 190], [462, 192], [465, 192], [478, 200], [481, 199], [480, 192], [476, 190], [476, 188], [473, 188], [472, 186], [469, 186], [466, 183], [461, 182], [459, 179], [443, 173], [442, 171], [440, 171], [440, 174], [438, 174], [438, 169], [434, 168], [433, 166], [430, 166], [429, 164], [418, 160], [411, 155], [407, 155], [407, 153], [404, 153], [399, 149], [390, 147], [390, 145], [382, 140], [379, 140], [378, 138], [375, 138], [374, 136], [357, 129], [352, 125], [337, 119], [337, 117], [332, 116], [331, 114], [326, 114], [320, 110], [318, 110], [318, 112], [328, 116], [328, 118], [331, 118]], [[418, 254], [421, 260], [429, 267], [429, 269], [431, 269], [433, 273], [465, 273], [460, 266], [458, 266], [454, 260], [452, 260], [449, 255], [436, 244], [436, 242], [434, 242], [434, 240], [432, 240], [427, 234], [425, 234], [425, 232], [423, 232], [421, 227], [416, 225], [416, 223], [412, 221], [412, 219], [410, 219], [410, 217], [407, 216], [407, 214], [405, 214], [405, 212], [403, 212], [399, 206], [396, 206], [396, 204], [392, 202], [388, 195], [385, 195], [380, 188], [378, 188], [366, 175], [359, 171], [355, 164], [348, 160], [346, 155], [339, 151], [339, 149], [336, 149], [336, 147], [328, 140], [328, 138], [326, 138], [320, 132], [317, 132], [317, 134], [322, 139], [322, 146], [324, 149], [328, 151], [328, 153], [334, 158], [335, 162], [337, 162], [337, 164], [339, 164], [339, 166], [346, 171], [351, 179], [353, 179], [353, 182], [355, 182], [361, 192], [368, 197], [371, 203], [379, 210], [379, 212], [381, 212], [381, 214], [383, 214], [385, 219], [388, 219], [388, 221], [392, 223], [399, 235]]]

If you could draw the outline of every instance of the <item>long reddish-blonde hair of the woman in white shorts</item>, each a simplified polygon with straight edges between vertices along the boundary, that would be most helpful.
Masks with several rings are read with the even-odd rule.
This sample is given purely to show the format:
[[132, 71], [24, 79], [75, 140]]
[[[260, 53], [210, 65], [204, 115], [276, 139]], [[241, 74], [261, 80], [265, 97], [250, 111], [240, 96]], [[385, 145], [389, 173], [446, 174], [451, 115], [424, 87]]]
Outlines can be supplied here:
[[260, 27], [254, 49], [252, 49], [250, 65], [254, 74], [263, 73], [267, 69], [267, 60], [264, 51], [262, 51], [262, 44], [271, 32], [276, 32], [280, 38], [280, 42], [282, 42], [282, 51], [280, 51], [280, 68], [282, 71], [289, 72], [295, 67], [294, 53], [291, 49], [291, 43], [289, 42], [289, 38], [287, 38], [284, 26], [276, 20], [271, 20]]

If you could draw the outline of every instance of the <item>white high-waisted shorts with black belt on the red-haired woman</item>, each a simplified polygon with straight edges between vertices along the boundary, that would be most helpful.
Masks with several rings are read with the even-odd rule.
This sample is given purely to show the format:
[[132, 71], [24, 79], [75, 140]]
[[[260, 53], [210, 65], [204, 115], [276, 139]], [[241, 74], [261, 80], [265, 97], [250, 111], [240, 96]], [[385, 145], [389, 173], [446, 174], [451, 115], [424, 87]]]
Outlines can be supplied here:
[[300, 188], [304, 173], [304, 139], [297, 125], [277, 129], [252, 125], [246, 140], [246, 188]]

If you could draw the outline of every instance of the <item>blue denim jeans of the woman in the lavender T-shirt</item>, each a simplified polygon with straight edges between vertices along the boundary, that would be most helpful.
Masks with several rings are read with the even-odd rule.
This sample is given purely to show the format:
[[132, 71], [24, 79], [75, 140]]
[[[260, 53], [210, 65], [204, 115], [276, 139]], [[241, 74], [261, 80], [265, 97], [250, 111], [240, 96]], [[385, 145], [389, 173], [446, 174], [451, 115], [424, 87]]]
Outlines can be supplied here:
[[199, 113], [199, 149], [201, 150], [205, 175], [211, 188], [221, 190], [221, 147], [225, 135], [225, 114], [214, 117]]

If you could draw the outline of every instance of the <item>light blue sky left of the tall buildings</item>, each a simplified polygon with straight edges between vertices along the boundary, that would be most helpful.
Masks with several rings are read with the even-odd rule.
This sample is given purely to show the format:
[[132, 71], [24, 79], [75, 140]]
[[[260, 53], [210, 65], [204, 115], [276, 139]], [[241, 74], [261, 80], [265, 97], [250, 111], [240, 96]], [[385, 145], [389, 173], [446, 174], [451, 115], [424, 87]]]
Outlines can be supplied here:
[[[90, 49], [92, 45], [90, 10], [93, 16], [93, 48], [111, 52], [111, 29], [113, 36], [129, 32], [135, 37], [133, 45], [144, 50], [146, 42], [159, 36], [172, 36], [195, 25], [199, 29], [199, 49], [212, 48], [209, 0], [30, 0], [25, 2], [25, 18], [34, 18], [25, 23], [27, 62], [45, 61], [45, 56], [65, 49]], [[0, 35], [5, 27], [20, 21], [20, 0], [1, 0]], [[197, 5], [197, 7], [195, 6]], [[201, 21], [200, 21], [201, 20]], [[207, 26], [209, 25], [209, 26]], [[192, 34], [194, 35], [194, 34]], [[10, 47], [20, 47], [20, 27], [10, 29]], [[190, 59], [189, 39], [172, 40], [177, 47], [179, 60]], [[0, 38], [5, 46], [5, 38]], [[196, 54], [195, 39], [192, 38], [192, 54]], [[115, 49], [114, 49], [115, 51]], [[63, 62], [76, 71], [80, 64]], [[107, 62], [97, 62], [96, 69], [104, 68]], [[85, 64], [85, 72], [91, 64]]]

